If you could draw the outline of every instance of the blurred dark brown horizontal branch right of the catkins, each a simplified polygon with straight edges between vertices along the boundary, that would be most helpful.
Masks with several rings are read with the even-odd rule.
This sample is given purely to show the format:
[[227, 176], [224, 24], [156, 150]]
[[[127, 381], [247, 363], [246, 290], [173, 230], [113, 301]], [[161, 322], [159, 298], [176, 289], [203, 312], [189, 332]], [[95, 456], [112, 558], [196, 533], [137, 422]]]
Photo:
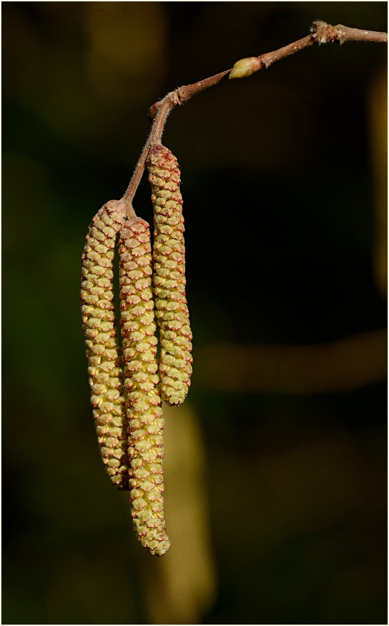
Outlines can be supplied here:
[[196, 385], [215, 391], [331, 393], [387, 377], [388, 331], [313, 346], [214, 343], [196, 350]]

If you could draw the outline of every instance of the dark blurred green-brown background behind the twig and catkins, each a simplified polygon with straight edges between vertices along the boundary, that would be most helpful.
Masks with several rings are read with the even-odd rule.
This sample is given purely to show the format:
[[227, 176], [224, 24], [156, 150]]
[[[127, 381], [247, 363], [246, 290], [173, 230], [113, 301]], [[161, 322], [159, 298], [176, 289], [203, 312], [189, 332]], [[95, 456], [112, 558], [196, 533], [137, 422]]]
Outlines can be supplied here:
[[386, 623], [386, 46], [314, 46], [168, 120], [194, 361], [159, 560], [99, 458], [79, 289], [149, 105], [316, 18], [386, 30], [387, 3], [2, 17], [3, 623]]

